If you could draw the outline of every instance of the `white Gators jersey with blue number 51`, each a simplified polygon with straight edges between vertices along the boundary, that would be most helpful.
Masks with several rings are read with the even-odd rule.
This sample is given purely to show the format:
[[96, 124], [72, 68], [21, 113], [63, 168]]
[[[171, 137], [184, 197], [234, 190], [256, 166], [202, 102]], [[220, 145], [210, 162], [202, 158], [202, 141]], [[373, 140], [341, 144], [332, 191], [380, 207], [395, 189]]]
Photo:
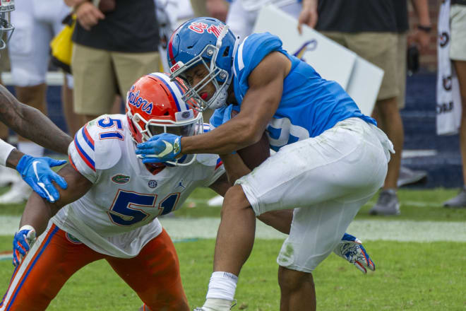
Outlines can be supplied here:
[[162, 232], [157, 216], [179, 209], [196, 187], [225, 172], [218, 155], [198, 155], [189, 166], [153, 175], [135, 150], [125, 115], [103, 115], [81, 128], [68, 155], [93, 186], [52, 222], [96, 252], [134, 257]]

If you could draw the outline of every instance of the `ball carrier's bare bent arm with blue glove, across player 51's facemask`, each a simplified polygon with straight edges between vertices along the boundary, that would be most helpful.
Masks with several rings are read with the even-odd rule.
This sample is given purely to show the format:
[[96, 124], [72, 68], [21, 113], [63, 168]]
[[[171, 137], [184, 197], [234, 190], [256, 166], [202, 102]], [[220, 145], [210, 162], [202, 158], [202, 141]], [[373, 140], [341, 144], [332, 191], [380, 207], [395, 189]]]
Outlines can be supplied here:
[[283, 80], [291, 69], [291, 61], [280, 52], [268, 54], [248, 78], [249, 90], [241, 103], [241, 111], [233, 119], [208, 133], [196, 136], [160, 134], [138, 144], [137, 154], [158, 155], [143, 163], [170, 160], [183, 154], [227, 154], [259, 141], [282, 98]]

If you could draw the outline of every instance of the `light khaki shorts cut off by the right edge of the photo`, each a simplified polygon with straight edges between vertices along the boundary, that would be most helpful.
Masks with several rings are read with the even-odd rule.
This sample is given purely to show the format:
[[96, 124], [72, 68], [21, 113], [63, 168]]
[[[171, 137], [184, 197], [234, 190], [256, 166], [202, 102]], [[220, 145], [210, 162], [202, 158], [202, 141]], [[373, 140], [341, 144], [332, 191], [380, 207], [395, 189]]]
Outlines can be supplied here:
[[466, 6], [453, 4], [450, 8], [450, 59], [466, 61]]

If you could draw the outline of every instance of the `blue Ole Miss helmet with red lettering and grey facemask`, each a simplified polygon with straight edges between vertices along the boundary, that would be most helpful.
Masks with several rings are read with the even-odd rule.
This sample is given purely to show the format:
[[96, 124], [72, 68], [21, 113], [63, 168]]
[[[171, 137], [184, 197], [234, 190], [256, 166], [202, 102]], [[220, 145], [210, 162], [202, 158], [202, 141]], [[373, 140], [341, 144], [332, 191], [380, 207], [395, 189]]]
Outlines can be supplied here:
[[[167, 48], [170, 77], [184, 79], [188, 89], [183, 98], [186, 102], [194, 99], [190, 102], [194, 104], [193, 109], [202, 112], [209, 107], [217, 109], [225, 105], [238, 43], [228, 26], [216, 18], [193, 18], [174, 31]], [[198, 64], [205, 66], [208, 75], [191, 86], [184, 74]], [[199, 93], [208, 83], [213, 83], [215, 93], [207, 100]]]

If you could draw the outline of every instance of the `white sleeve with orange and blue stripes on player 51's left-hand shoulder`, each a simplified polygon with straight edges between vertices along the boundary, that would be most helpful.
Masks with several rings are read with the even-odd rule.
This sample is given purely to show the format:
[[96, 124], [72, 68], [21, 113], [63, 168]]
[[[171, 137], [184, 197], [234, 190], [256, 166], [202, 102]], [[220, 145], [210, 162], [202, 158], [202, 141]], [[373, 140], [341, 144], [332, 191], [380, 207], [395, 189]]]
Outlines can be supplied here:
[[118, 139], [106, 139], [104, 129], [92, 121], [76, 132], [68, 146], [71, 165], [90, 182], [95, 183], [102, 170], [112, 168], [121, 158]]

